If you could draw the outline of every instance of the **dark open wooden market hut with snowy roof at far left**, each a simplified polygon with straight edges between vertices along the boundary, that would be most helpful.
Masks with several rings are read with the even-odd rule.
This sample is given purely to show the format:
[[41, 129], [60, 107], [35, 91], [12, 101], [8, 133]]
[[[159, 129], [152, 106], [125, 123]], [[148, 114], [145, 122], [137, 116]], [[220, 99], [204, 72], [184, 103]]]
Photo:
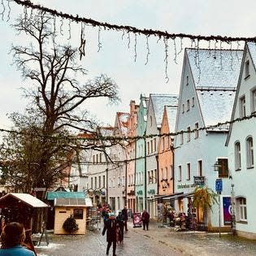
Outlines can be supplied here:
[[[7, 193], [0, 198], [1, 219], [4, 223], [19, 222], [26, 230], [25, 243], [35, 252], [31, 239], [33, 212], [48, 207], [46, 203], [28, 193]], [[36, 253], [36, 252], [35, 252]]]

